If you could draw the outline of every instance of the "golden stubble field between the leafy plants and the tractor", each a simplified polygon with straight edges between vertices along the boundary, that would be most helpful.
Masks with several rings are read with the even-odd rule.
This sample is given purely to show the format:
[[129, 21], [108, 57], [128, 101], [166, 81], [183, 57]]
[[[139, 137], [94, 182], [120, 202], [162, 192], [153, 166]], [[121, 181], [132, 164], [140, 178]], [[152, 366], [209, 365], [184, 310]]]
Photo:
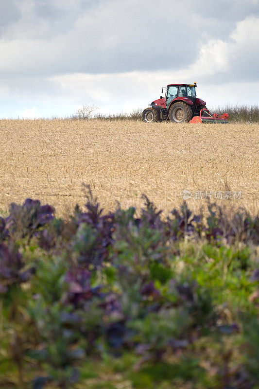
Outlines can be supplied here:
[[139, 208], [145, 193], [168, 213], [189, 190], [193, 210], [207, 191], [256, 214], [258, 140], [259, 124], [0, 120], [0, 209], [31, 197], [65, 216], [85, 204], [86, 183], [106, 210]]

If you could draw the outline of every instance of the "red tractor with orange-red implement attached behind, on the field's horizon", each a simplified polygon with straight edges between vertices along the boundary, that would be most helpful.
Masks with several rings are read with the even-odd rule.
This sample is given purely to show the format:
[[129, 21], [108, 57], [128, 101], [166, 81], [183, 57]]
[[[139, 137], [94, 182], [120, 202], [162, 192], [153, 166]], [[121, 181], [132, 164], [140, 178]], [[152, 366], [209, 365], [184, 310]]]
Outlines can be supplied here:
[[[206, 108], [206, 102], [202, 99], [197, 99], [194, 84], [169, 84], [166, 89], [166, 95], [160, 99], [153, 101], [151, 108], [144, 109], [142, 119], [144, 122], [160, 122], [162, 120], [171, 120], [173, 123], [188, 123], [195, 117], [192, 123], [204, 123], [206, 121], [215, 122], [216, 119], [220, 123], [227, 122], [226, 116], [212, 116]], [[164, 88], [162, 88], [162, 93]], [[204, 115], [204, 116], [202, 116]], [[196, 118], [200, 118], [197, 119]], [[212, 119], [211, 119], [212, 118]]]

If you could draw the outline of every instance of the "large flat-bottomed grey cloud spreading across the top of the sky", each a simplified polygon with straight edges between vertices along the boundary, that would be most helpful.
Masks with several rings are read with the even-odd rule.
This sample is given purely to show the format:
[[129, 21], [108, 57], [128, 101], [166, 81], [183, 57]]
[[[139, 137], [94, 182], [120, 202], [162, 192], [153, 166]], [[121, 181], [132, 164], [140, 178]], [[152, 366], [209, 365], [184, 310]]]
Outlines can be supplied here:
[[[30, 18], [24, 12], [18, 23], [11, 21], [10, 46], [8, 39], [0, 44], [10, 61], [2, 61], [0, 72], [52, 75], [184, 69], [196, 60], [199, 42], [226, 39], [236, 19], [256, 9], [252, 1], [246, 7], [241, 0], [204, 4], [201, 0], [160, 0], [159, 4], [155, 0], [22, 0], [17, 7], [29, 7]], [[16, 40], [17, 49], [12, 46]]]

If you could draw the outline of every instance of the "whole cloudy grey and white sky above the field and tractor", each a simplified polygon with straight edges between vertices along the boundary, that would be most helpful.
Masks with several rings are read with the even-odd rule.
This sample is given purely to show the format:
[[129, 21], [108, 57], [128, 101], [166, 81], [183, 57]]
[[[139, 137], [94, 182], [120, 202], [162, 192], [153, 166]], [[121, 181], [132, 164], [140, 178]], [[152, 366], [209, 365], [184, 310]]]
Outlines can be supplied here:
[[0, 0], [0, 118], [259, 102], [259, 0]]

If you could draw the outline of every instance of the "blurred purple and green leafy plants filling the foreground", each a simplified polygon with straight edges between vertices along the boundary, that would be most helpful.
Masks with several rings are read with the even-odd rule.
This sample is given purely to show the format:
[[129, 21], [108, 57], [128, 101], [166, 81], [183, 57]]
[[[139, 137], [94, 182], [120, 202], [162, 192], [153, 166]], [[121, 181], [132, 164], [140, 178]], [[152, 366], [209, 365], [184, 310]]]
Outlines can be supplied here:
[[259, 218], [144, 201], [0, 218], [0, 388], [259, 388]]

